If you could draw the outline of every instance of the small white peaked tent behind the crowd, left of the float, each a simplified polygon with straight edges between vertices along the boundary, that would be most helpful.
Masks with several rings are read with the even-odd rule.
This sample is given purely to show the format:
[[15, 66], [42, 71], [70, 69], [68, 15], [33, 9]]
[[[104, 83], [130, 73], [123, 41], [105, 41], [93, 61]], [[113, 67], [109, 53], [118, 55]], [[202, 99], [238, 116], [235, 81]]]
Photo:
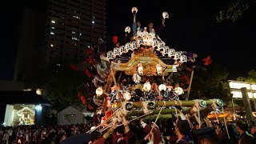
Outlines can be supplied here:
[[70, 125], [84, 123], [84, 115], [72, 106], [58, 112], [58, 125]]

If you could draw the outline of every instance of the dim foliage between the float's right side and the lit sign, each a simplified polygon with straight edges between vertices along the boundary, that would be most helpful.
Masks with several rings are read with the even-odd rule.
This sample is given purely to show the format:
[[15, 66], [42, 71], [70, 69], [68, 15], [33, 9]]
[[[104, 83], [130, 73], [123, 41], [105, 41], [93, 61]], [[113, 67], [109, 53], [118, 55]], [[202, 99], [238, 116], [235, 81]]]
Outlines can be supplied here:
[[230, 90], [227, 82], [228, 72], [218, 64], [213, 63], [204, 68], [194, 69], [194, 78], [190, 91], [190, 99], [220, 98], [223, 102], [230, 102]]

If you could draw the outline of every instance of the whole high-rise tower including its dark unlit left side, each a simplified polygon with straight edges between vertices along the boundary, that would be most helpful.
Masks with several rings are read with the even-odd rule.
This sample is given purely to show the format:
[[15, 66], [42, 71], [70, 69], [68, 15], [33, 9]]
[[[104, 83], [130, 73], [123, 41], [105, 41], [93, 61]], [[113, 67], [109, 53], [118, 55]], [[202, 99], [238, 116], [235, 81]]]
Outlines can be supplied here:
[[38, 0], [24, 7], [14, 81], [37, 82], [50, 62], [82, 62], [84, 48], [105, 38], [106, 0]]

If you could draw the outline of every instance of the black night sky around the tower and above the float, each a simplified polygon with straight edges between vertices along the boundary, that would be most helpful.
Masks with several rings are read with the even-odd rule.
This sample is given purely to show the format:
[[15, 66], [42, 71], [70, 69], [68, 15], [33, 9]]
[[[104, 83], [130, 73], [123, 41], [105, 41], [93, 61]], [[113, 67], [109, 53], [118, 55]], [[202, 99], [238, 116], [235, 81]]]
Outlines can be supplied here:
[[[2, 10], [0, 79], [13, 78], [22, 6], [38, 6], [32, 2], [20, 2], [16, 6], [10, 3]], [[235, 23], [217, 23], [215, 14], [226, 6], [226, 1], [107, 0], [108, 39], [113, 34], [122, 37], [125, 27], [132, 26], [133, 6], [138, 7], [142, 26], [147, 26], [149, 21], [158, 26], [162, 22], [162, 12], [169, 12], [166, 27], [159, 34], [167, 46], [198, 53], [199, 57], [210, 54], [214, 62], [230, 72], [230, 78], [246, 76], [248, 70], [256, 70], [256, 6], [251, 6]]]

